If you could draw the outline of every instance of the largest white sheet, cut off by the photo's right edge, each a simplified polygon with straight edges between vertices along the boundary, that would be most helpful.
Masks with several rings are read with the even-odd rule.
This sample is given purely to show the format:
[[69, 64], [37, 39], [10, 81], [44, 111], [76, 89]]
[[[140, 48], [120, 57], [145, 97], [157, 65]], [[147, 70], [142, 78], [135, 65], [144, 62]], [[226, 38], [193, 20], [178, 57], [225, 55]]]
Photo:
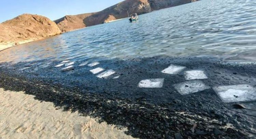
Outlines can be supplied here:
[[225, 103], [256, 100], [256, 88], [249, 84], [216, 86], [213, 90]]

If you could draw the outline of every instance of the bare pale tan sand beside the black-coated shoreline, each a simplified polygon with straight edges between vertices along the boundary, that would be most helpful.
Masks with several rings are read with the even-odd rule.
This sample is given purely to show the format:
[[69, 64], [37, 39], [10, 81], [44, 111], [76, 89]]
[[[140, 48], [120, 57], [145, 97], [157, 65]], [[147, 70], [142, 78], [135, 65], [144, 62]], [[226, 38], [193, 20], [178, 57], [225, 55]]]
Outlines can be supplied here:
[[51, 102], [40, 102], [24, 92], [0, 88], [0, 138], [131, 139], [115, 125], [63, 112]]

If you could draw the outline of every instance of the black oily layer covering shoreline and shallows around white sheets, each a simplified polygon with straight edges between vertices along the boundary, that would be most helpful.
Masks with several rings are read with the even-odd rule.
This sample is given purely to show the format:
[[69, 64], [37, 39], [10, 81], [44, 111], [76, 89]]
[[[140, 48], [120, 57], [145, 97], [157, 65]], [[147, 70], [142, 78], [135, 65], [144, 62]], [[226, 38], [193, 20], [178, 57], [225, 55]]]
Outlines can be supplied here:
[[[59, 62], [54, 64], [57, 63]], [[250, 128], [255, 128], [255, 117], [233, 111], [230, 108], [233, 103], [222, 103], [212, 90], [180, 96], [171, 84], [184, 81], [182, 74], [169, 77], [159, 73], [173, 63], [187, 66], [188, 69], [204, 69], [210, 78], [204, 82], [211, 86], [242, 83], [255, 85], [255, 81], [250, 79], [255, 75], [255, 65], [223, 65], [217, 59], [170, 57], [125, 61], [116, 59], [101, 63], [104, 63], [101, 67], [114, 69], [123, 78], [106, 82], [89, 74], [88, 67], [60, 72], [56, 68], [41, 69], [36, 64], [31, 65], [31, 62], [23, 62], [0, 67], [0, 87], [5, 90], [24, 91], [35, 95], [35, 99], [53, 102], [65, 110], [79, 111], [83, 115], [99, 117], [109, 124], [128, 127], [127, 134], [133, 137], [174, 138], [180, 133], [183, 138], [235, 139], [249, 138], [244, 133], [255, 135], [250, 131]], [[32, 68], [26, 71], [18, 70], [30, 65]], [[83, 75], [86, 77], [82, 78]], [[238, 75], [244, 78], [236, 79]], [[166, 76], [165, 86], [159, 90], [134, 88], [141, 79], [159, 76]], [[181, 116], [175, 112], [197, 114], [209, 120], [217, 119], [219, 122], [209, 123], [198, 117]], [[198, 123], [194, 133], [191, 131], [194, 122], [187, 119], [188, 117]], [[232, 123], [245, 132], [219, 128], [226, 123]], [[217, 129], [221, 134], [216, 134]]]

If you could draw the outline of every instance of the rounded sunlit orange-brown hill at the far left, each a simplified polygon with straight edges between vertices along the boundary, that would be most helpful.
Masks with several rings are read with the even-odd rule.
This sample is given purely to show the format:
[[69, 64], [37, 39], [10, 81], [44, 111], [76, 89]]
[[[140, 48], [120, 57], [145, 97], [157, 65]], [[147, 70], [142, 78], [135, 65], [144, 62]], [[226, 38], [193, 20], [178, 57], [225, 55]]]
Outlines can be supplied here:
[[50, 19], [23, 14], [0, 24], [0, 50], [60, 33], [57, 24]]

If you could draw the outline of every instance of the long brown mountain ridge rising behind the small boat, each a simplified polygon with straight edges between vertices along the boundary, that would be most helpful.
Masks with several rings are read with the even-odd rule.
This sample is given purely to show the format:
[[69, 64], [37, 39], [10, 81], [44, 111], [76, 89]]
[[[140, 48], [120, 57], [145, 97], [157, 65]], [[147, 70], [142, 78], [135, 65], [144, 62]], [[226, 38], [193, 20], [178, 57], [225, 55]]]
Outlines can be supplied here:
[[[158, 9], [189, 3], [191, 0], [125, 0], [103, 11], [68, 16], [55, 20], [63, 32], [127, 17], [129, 14], [145, 14]], [[83, 22], [82, 22], [83, 21]]]

